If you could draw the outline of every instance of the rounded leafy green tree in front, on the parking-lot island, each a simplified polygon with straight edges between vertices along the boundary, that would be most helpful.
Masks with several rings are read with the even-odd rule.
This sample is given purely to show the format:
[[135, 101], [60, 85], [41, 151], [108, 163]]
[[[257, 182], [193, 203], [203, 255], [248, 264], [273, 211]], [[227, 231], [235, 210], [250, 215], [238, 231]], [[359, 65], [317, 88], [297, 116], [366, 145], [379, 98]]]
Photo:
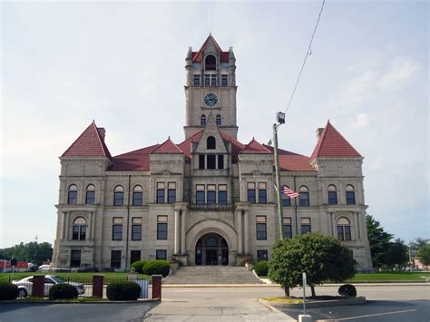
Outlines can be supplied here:
[[269, 278], [279, 283], [289, 296], [289, 288], [307, 283], [315, 296], [315, 286], [326, 280], [343, 282], [354, 277], [355, 261], [349, 249], [337, 239], [318, 233], [296, 236], [294, 239], [278, 240], [269, 264]]

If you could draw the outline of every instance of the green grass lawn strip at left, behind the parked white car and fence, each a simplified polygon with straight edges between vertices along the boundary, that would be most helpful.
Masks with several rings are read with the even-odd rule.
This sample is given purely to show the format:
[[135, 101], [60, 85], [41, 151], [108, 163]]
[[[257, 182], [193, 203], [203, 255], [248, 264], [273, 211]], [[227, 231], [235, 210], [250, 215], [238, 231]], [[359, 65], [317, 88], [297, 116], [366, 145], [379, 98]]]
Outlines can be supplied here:
[[[112, 280], [118, 280], [123, 279], [126, 280], [129, 273], [126, 272], [105, 272], [105, 273], [94, 273], [94, 272], [85, 272], [85, 273], [40, 273], [40, 272], [23, 272], [23, 273], [15, 273], [14, 279], [21, 279], [26, 278], [28, 276], [32, 275], [55, 275], [59, 276], [61, 278], [64, 278], [69, 281], [75, 281], [80, 283], [92, 283], [93, 281], [93, 275], [103, 275], [104, 276], [104, 283], [109, 283]], [[12, 278], [12, 273], [0, 273], [0, 281], [6, 280], [8, 281], [10, 278]], [[149, 279], [151, 278], [148, 275], [139, 274], [138, 278], [145, 278]]]

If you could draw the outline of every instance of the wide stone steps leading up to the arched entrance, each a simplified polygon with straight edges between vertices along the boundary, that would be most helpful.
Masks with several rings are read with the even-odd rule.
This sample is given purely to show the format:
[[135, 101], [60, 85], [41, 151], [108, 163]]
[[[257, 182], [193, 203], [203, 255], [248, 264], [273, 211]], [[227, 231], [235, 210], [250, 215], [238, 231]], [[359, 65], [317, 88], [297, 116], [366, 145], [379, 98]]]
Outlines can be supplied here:
[[254, 273], [242, 267], [181, 267], [165, 284], [263, 284]]

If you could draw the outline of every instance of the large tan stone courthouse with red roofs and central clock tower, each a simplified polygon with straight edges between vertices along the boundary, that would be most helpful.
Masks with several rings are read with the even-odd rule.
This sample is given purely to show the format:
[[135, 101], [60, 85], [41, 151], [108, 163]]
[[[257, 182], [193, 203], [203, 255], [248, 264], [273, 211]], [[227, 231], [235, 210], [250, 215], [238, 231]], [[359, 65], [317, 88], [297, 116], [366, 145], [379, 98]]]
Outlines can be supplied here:
[[[189, 48], [185, 73], [184, 141], [112, 156], [105, 130], [92, 122], [60, 157], [55, 267], [270, 259], [279, 239], [273, 148], [238, 141], [232, 48], [222, 51], [210, 35], [199, 51]], [[333, 236], [352, 251], [357, 269], [372, 268], [363, 156], [330, 122], [309, 152], [279, 150], [281, 184], [300, 194], [283, 195], [284, 237]]]

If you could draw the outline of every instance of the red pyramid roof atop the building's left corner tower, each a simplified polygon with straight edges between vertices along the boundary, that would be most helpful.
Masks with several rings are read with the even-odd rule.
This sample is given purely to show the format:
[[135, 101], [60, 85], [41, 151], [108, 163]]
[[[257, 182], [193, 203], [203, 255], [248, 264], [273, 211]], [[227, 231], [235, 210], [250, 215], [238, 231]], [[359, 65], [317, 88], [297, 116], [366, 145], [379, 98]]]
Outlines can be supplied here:
[[95, 122], [83, 131], [62, 157], [106, 157], [112, 161], [111, 152], [104, 143]]

